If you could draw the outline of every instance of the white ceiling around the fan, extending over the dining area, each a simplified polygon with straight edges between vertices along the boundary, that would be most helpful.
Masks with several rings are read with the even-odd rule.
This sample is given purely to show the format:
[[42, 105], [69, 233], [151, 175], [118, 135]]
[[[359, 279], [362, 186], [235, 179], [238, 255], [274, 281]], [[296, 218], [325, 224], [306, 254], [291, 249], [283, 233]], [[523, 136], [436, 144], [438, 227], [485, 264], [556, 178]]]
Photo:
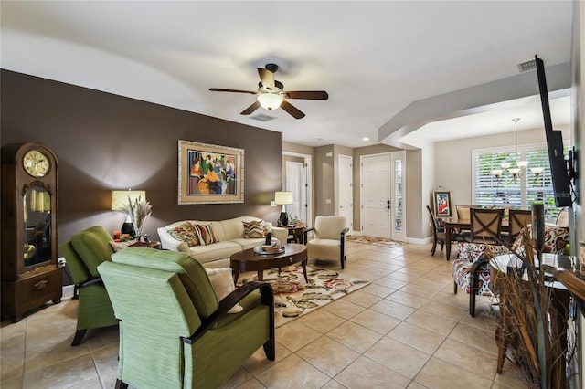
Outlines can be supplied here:
[[[513, 77], [535, 54], [547, 67], [569, 62], [571, 20], [570, 1], [2, 1], [0, 66], [280, 131], [287, 142], [360, 147], [385, 142], [380, 127], [413, 101]], [[208, 90], [256, 90], [267, 63], [279, 65], [284, 89], [326, 90], [329, 100], [290, 100], [300, 120], [283, 110], [243, 116], [255, 96]], [[569, 98], [551, 110], [553, 124], [569, 123]], [[519, 131], [542, 126], [539, 101], [407, 137], [513, 131], [514, 117]]]

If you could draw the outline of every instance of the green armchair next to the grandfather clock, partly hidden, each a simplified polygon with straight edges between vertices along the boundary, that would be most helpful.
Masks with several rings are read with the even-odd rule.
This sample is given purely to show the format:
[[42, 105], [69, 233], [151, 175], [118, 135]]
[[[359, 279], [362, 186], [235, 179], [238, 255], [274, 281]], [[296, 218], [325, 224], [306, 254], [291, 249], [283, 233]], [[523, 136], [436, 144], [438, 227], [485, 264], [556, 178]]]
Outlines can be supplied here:
[[92, 226], [59, 247], [79, 293], [77, 331], [71, 346], [80, 344], [89, 329], [118, 324], [98, 272], [101, 262], [112, 260], [111, 241], [112, 237], [103, 227]]

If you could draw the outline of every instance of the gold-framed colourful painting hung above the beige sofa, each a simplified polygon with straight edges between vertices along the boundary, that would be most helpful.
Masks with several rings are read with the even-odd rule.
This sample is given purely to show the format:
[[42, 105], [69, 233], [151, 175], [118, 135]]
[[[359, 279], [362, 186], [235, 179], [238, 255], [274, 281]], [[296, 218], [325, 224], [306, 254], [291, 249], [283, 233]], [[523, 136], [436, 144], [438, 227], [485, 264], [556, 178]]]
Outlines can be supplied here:
[[179, 140], [178, 204], [244, 202], [244, 150]]

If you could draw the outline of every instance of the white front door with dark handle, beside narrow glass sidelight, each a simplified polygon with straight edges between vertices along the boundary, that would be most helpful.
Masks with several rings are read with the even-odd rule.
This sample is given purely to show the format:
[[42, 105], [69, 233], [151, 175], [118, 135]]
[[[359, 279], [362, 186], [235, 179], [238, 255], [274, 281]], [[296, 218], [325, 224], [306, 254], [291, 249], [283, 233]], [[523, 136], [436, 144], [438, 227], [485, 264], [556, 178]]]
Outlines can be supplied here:
[[388, 154], [361, 157], [362, 234], [392, 237], [391, 175], [392, 159]]

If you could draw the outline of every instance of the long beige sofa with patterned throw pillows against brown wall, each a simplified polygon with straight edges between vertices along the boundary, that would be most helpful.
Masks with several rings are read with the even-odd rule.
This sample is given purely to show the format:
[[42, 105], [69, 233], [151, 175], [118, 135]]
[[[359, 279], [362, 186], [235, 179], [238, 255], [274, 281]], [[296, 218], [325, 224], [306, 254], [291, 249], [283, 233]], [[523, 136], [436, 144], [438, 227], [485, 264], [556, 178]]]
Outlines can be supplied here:
[[[261, 219], [254, 216], [239, 216], [233, 219], [218, 221], [182, 220], [168, 226], [159, 227], [157, 232], [162, 248], [173, 251], [184, 251], [193, 258], [196, 258], [207, 268], [228, 268], [229, 256], [233, 253], [246, 248], [260, 246], [265, 242], [264, 237], [245, 237], [244, 235], [243, 222], [259, 220]], [[189, 247], [188, 243], [172, 237], [169, 230], [172, 231], [177, 226], [185, 224], [186, 221], [197, 225], [211, 225], [218, 237], [218, 242], [204, 246], [197, 244], [196, 246]], [[268, 222], [265, 223], [270, 226], [272, 241], [286, 244], [288, 230], [282, 227], [271, 226], [271, 223]]]

